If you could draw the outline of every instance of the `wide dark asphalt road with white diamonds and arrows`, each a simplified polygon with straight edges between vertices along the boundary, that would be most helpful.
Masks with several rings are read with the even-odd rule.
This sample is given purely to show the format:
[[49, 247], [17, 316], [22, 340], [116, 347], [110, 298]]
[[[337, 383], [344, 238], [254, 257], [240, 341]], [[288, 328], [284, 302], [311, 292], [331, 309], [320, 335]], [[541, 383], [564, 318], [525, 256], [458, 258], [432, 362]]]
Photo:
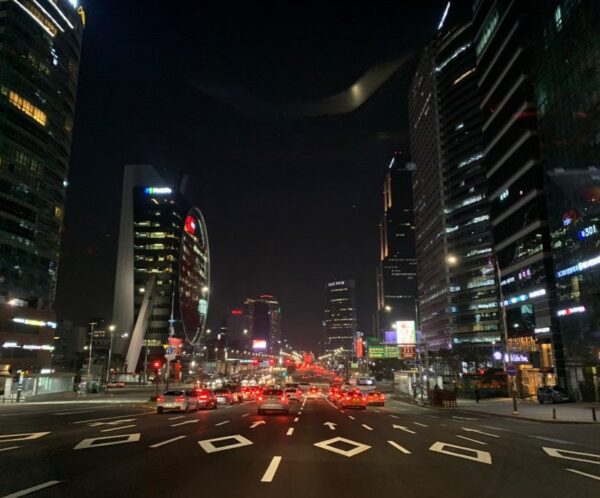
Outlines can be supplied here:
[[28, 494], [598, 497], [600, 426], [325, 399], [290, 416], [252, 402], [163, 415], [146, 403], [2, 407], [0, 497]]

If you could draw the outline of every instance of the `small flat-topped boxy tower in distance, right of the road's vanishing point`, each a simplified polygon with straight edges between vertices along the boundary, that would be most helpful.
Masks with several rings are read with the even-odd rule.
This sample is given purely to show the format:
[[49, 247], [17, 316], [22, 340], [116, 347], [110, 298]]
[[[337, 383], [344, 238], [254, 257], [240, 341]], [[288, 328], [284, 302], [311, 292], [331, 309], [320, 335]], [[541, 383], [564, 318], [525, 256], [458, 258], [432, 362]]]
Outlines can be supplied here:
[[325, 285], [325, 351], [354, 351], [357, 332], [356, 282], [337, 280]]

